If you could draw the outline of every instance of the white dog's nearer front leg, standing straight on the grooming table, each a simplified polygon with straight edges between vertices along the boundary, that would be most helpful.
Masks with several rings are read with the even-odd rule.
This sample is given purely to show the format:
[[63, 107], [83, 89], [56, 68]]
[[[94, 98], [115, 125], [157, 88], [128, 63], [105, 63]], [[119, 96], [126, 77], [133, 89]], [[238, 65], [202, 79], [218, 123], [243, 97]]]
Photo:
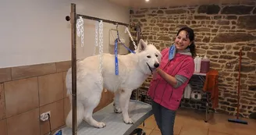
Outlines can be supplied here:
[[131, 92], [132, 92], [131, 90], [123, 90], [122, 92], [120, 92], [120, 96], [119, 96], [119, 103], [120, 103], [120, 108], [123, 114], [123, 121], [126, 124], [133, 124], [133, 120], [130, 119], [128, 114]]

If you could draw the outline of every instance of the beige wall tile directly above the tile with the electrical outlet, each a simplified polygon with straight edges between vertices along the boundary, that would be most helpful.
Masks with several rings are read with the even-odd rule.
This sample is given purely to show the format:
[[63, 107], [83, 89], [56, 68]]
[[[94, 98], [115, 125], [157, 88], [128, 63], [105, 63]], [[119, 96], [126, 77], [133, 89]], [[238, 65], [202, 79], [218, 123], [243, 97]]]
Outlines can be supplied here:
[[63, 75], [55, 73], [39, 76], [40, 106], [58, 101], [63, 98]]

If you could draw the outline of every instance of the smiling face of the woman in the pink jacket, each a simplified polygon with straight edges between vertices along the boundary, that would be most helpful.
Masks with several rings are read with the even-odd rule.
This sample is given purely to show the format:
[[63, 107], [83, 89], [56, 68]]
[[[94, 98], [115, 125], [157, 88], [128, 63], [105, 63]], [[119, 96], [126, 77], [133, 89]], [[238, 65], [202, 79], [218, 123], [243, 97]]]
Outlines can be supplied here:
[[180, 31], [174, 43], [177, 50], [185, 50], [191, 44], [190, 38], [187, 37], [187, 31]]

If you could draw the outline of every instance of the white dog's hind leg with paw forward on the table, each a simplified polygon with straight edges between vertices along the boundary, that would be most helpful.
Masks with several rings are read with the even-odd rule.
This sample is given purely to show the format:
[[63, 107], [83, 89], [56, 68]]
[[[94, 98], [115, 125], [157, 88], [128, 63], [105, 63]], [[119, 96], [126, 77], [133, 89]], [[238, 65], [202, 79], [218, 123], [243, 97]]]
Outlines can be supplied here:
[[94, 108], [97, 107], [100, 100], [101, 100], [101, 93], [98, 91], [92, 92], [91, 95], [87, 97], [87, 102], [85, 103], [85, 112], [84, 112], [84, 120], [91, 126], [94, 126], [97, 128], [102, 128], [106, 126], [105, 123], [98, 122], [92, 117]]

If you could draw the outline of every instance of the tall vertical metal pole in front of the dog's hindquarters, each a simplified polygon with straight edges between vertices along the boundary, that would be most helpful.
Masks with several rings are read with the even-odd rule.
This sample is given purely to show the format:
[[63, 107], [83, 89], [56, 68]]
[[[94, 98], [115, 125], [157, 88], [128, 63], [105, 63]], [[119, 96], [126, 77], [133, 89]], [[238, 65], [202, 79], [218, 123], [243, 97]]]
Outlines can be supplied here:
[[76, 5], [71, 3], [71, 62], [72, 62], [72, 132], [77, 133], [76, 123]]

